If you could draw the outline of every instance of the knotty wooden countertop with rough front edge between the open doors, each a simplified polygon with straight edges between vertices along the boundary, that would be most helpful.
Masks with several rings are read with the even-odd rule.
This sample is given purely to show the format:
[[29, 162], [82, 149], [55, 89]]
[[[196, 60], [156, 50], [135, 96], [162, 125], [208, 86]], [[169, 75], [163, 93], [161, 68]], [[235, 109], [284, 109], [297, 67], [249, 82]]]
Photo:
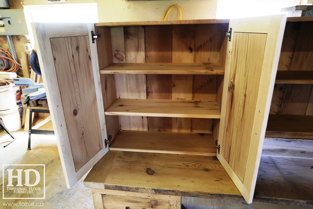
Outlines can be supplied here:
[[84, 180], [90, 188], [243, 200], [214, 156], [109, 151]]

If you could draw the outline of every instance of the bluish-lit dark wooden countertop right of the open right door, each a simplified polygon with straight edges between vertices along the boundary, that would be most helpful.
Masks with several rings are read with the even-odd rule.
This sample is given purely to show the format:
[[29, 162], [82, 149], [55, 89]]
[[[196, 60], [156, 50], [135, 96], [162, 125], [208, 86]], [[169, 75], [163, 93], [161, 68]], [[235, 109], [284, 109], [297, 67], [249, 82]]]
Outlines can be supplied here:
[[302, 200], [300, 206], [312, 207], [313, 141], [265, 138], [264, 145], [254, 199], [268, 197], [284, 205]]

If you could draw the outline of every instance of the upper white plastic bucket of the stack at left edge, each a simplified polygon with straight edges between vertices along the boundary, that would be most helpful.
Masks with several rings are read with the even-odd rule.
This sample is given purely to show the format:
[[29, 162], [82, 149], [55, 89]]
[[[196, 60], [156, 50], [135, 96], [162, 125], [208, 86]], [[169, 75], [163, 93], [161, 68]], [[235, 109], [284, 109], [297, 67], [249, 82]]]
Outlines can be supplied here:
[[16, 106], [16, 97], [12, 83], [0, 86], [0, 111], [9, 110]]

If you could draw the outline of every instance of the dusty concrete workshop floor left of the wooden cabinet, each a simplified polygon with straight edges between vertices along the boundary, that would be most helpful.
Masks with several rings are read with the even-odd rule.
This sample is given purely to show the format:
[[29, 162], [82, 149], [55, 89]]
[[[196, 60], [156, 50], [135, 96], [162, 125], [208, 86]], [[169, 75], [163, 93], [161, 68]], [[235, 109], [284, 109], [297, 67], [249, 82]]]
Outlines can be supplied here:
[[[45, 164], [46, 170], [46, 198], [44, 200], [27, 200], [33, 203], [43, 203], [41, 208], [82, 208], [91, 209], [93, 207], [90, 188], [83, 185], [82, 180], [73, 188], [66, 187], [62, 165], [59, 157], [58, 148], [54, 136], [45, 136], [32, 134], [31, 150], [27, 150], [28, 134], [27, 132], [16, 131], [14, 136], [18, 138], [12, 144], [3, 148], [11, 137], [0, 130], [0, 163], [3, 164]], [[3, 167], [0, 167], [2, 174]], [[0, 176], [0, 192], [2, 196], [3, 180]], [[26, 200], [3, 200], [1, 198], [0, 208], [21, 208], [18, 206], [3, 206], [3, 203], [19, 203]], [[32, 207], [23, 207], [32, 208]], [[34, 207], [38, 208], [38, 207]]]

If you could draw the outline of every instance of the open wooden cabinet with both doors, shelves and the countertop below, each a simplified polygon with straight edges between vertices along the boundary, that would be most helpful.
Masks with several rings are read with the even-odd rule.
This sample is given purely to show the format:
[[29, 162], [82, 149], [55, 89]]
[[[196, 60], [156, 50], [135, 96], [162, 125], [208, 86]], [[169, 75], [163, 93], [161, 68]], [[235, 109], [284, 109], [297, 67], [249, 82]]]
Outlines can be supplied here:
[[33, 24], [68, 187], [251, 203], [285, 24]]

